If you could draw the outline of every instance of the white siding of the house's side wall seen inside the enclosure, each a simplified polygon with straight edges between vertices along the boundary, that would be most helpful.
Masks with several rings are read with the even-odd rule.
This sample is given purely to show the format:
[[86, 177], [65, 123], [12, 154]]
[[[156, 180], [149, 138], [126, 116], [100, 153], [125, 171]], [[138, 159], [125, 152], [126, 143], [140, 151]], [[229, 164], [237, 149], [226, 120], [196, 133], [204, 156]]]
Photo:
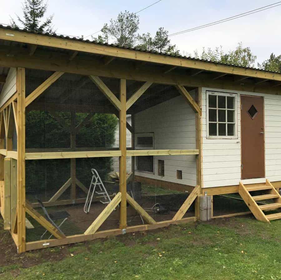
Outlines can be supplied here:
[[[194, 93], [191, 92], [194, 95]], [[195, 149], [195, 113], [184, 97], [158, 104], [135, 117], [136, 133], [154, 133], [154, 149]], [[164, 160], [165, 176], [158, 175], [158, 160]], [[167, 182], [196, 186], [196, 156], [154, 156], [154, 173], [136, 175]], [[182, 179], [176, 171], [182, 171]]]

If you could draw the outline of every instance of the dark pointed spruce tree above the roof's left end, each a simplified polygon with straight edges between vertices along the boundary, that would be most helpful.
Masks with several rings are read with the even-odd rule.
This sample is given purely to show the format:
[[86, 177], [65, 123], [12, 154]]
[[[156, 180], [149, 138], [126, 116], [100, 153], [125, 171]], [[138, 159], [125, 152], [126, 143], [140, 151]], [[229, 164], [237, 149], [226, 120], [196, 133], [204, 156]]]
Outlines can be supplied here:
[[[53, 33], [52, 20], [54, 15], [51, 15], [42, 21], [47, 11], [47, 7], [47, 3], [44, 3], [42, 0], [25, 0], [22, 4], [23, 19], [16, 15], [17, 20], [28, 31]], [[12, 17], [11, 25], [13, 27], [18, 27], [16, 21]]]

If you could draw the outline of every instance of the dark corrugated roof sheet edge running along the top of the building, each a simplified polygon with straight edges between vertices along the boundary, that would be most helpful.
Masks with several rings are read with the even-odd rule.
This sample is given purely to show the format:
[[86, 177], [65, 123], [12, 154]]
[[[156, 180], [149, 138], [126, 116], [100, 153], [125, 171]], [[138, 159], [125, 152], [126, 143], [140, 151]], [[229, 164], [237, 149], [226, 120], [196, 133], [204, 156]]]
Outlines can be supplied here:
[[12, 26], [3, 26], [2, 24], [0, 24], [0, 28], [8, 29], [8, 30], [17, 30], [17, 31], [33, 33], [33, 34], [40, 34], [40, 35], [49, 36], [49, 37], [63, 38], [63, 39], [68, 39], [68, 40], [73, 40], [73, 41], [93, 43], [93, 44], [97, 44], [97, 45], [113, 46], [113, 47], [116, 47], [116, 48], [127, 49], [127, 50], [135, 50], [135, 51], [165, 55], [165, 56], [170, 56], [170, 57], [178, 57], [178, 58], [183, 58], [183, 59], [196, 60], [196, 61], [202, 61], [202, 62], [207, 62], [207, 63], [214, 63], [214, 64], [233, 66], [233, 67], [238, 67], [238, 68], [243, 68], [243, 69], [252, 69], [252, 70], [259, 70], [259, 71], [269, 72], [269, 73], [274, 73], [274, 74], [280, 74], [280, 72], [264, 71], [263, 69], [258, 69], [258, 68], [254, 68], [254, 67], [244, 67], [244, 66], [239, 66], [239, 65], [236, 65], [236, 64], [214, 62], [214, 61], [210, 61], [210, 60], [206, 60], [206, 59], [198, 59], [198, 58], [194, 58], [194, 57], [190, 57], [190, 56], [187, 57], [187, 56], [182, 56], [182, 55], [170, 55], [170, 54], [167, 54], [167, 53], [157, 52], [157, 51], [153, 51], [153, 50], [143, 50], [143, 49], [138, 49], [138, 48], [135, 48], [135, 47], [126, 47], [126, 46], [121, 46], [121, 45], [116, 45], [116, 44], [101, 43], [101, 42], [97, 42], [95, 40], [92, 40], [92, 41], [91, 40], [84, 40], [83, 38], [76, 38], [76, 37], [71, 37], [71, 36], [59, 35], [59, 34], [56, 34], [56, 33], [51, 34], [51, 33], [47, 33], [47, 32], [28, 31], [27, 29], [22, 29], [22, 28], [12, 27]]

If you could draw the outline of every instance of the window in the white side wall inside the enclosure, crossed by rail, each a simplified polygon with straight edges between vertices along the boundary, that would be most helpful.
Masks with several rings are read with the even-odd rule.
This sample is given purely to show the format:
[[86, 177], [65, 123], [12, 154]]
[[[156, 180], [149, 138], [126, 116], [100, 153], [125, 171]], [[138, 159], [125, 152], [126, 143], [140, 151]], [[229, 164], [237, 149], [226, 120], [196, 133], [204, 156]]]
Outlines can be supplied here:
[[[135, 147], [141, 150], [153, 150], [154, 133], [136, 133]], [[135, 169], [141, 172], [154, 173], [154, 156], [137, 156]]]

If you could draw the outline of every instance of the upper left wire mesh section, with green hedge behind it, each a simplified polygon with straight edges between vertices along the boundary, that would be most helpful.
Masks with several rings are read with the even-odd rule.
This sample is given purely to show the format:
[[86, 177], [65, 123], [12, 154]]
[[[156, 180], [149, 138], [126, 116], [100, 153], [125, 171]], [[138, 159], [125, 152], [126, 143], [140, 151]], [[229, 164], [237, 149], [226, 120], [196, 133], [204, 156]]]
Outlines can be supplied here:
[[[27, 94], [50, 73], [27, 71]], [[102, 78], [119, 98], [119, 79]], [[26, 108], [28, 151], [112, 150], [119, 147], [119, 112], [86, 76], [63, 74]]]

